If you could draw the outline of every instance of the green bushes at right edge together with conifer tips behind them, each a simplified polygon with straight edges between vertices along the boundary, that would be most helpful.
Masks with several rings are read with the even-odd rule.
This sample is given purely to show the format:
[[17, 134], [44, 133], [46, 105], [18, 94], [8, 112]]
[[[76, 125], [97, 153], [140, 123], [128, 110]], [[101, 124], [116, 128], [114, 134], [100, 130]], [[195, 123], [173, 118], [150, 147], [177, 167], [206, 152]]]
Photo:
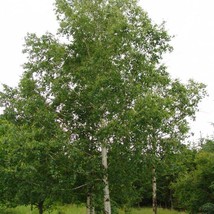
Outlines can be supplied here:
[[183, 167], [170, 187], [176, 208], [190, 213], [214, 212], [214, 140], [203, 139], [199, 149], [184, 153]]

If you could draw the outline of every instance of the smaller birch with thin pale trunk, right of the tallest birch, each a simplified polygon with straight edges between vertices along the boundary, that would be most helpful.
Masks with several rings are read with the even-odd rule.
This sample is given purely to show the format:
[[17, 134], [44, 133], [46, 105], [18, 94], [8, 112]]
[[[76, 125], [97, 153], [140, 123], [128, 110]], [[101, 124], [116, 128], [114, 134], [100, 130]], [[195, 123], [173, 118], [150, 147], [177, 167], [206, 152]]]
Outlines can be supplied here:
[[[188, 136], [189, 120], [194, 119], [198, 104], [206, 95], [205, 86], [192, 80], [182, 84], [170, 80], [158, 88], [151, 88], [135, 105], [135, 128], [142, 141], [142, 153], [151, 156], [153, 213], [157, 213], [157, 163], [179, 151]], [[136, 132], [136, 131], [135, 131]]]

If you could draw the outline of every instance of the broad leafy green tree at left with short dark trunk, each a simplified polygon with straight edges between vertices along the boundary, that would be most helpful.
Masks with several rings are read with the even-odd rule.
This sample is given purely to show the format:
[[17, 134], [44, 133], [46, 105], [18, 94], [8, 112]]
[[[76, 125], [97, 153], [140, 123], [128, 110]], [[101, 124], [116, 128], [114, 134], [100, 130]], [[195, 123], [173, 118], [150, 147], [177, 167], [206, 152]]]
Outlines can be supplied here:
[[36, 205], [43, 213], [72, 187], [69, 138], [28, 76], [17, 89], [5, 86], [0, 100], [6, 121], [1, 125], [3, 198], [9, 205]]

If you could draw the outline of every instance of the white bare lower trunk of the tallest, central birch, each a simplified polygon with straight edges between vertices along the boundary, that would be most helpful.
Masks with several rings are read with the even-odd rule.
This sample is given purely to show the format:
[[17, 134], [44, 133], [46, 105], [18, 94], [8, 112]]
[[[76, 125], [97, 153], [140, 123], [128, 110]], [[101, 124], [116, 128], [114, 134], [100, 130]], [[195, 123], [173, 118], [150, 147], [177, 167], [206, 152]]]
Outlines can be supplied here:
[[105, 170], [105, 175], [103, 177], [104, 182], [104, 214], [111, 214], [111, 202], [110, 202], [110, 193], [109, 193], [109, 182], [108, 182], [108, 163], [107, 163], [107, 147], [106, 144], [102, 144], [102, 164]]

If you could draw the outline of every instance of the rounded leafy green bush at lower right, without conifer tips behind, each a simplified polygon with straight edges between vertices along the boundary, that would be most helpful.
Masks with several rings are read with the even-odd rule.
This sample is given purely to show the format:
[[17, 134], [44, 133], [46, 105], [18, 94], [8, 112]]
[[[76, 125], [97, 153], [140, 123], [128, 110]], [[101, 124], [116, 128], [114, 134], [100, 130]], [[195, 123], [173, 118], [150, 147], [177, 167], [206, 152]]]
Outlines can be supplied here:
[[194, 160], [195, 167], [180, 173], [173, 184], [175, 198], [180, 208], [199, 212], [205, 204], [213, 202], [214, 153], [199, 151]]

